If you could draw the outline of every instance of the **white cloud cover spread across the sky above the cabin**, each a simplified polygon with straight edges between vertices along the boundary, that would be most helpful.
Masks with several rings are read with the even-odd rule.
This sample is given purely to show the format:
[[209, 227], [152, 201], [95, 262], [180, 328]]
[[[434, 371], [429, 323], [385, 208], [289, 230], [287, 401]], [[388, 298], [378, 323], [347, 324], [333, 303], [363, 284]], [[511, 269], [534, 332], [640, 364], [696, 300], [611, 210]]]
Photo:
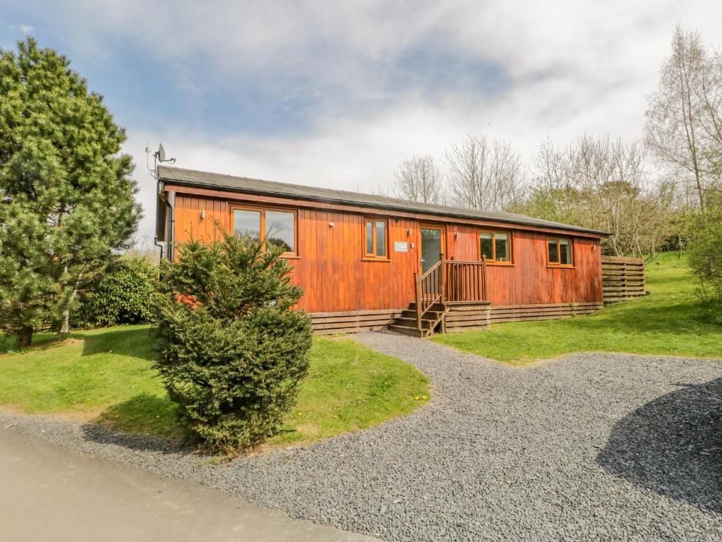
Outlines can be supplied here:
[[[391, 180], [402, 158], [441, 157], [469, 133], [510, 139], [528, 159], [547, 136], [560, 144], [583, 133], [638, 139], [674, 25], [693, 25], [722, 45], [713, 43], [722, 35], [722, 2], [714, 0], [97, 5], [84, 47], [112, 57], [107, 36], [123, 35], [157, 62], [181, 66], [169, 84], [193, 87], [183, 66], [194, 58], [227, 84], [250, 84], [254, 74], [254, 82], [269, 85], [295, 74], [312, 90], [379, 104], [322, 110], [293, 136], [253, 137], [243, 127], [188, 134], [173, 128], [174, 119], [163, 128], [128, 126], [126, 150], [144, 183], [143, 232], [152, 231], [155, 213], [155, 187], [144, 173], [147, 141], [163, 141], [180, 167], [370, 191]], [[503, 66], [508, 86], [490, 95], [440, 80], [433, 95], [404, 86], [395, 93], [389, 81], [398, 75], [396, 62], [419, 48]]]

